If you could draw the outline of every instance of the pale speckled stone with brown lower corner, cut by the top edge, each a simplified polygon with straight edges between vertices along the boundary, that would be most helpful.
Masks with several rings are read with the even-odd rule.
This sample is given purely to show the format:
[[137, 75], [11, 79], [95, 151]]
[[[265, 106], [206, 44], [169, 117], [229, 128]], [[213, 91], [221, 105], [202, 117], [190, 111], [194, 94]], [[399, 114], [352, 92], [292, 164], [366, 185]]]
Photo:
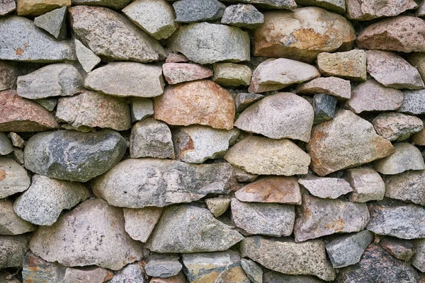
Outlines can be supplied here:
[[179, 27], [173, 7], [165, 0], [139, 0], [123, 8], [123, 13], [157, 40], [169, 37]]

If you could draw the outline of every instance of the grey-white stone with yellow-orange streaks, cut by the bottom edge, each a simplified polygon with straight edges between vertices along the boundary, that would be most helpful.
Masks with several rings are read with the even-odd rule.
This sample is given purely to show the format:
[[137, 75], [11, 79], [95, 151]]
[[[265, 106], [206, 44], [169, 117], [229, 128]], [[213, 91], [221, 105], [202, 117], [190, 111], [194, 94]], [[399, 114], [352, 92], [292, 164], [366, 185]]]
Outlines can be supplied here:
[[241, 258], [232, 250], [220, 253], [187, 253], [181, 256], [183, 271], [191, 283], [249, 283]]

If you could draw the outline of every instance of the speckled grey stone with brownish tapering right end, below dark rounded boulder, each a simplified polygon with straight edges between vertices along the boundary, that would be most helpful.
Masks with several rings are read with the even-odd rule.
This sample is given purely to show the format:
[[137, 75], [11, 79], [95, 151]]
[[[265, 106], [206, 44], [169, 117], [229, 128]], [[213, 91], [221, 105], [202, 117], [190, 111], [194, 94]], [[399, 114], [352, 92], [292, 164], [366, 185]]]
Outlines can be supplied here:
[[84, 185], [33, 175], [28, 190], [13, 204], [16, 214], [36, 225], [51, 226], [63, 209], [72, 209], [90, 197]]

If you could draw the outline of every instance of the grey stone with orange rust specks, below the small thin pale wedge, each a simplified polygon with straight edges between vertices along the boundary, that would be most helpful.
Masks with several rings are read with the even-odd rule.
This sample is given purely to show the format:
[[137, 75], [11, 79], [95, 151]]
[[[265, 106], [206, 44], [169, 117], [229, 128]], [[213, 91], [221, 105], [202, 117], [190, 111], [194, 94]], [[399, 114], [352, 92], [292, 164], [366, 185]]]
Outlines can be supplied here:
[[302, 195], [302, 205], [296, 211], [295, 242], [333, 233], [358, 232], [369, 221], [368, 207], [364, 203], [324, 200], [310, 195]]

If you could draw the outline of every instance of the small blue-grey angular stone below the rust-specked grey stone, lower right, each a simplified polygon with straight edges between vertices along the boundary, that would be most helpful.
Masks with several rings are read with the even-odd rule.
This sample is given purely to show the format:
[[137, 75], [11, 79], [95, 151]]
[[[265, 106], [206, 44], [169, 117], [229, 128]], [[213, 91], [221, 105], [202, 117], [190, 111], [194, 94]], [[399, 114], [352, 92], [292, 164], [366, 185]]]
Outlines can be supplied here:
[[363, 230], [335, 238], [326, 244], [326, 250], [334, 268], [354, 265], [373, 241], [373, 233]]

